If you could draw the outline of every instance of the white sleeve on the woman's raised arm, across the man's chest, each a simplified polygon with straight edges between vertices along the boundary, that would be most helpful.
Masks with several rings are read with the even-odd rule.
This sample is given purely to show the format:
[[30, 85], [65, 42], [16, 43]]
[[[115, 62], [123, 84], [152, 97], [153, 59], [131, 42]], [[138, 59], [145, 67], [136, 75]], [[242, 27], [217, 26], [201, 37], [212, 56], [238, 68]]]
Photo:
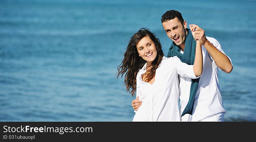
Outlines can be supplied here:
[[200, 77], [200, 76], [198, 77], [195, 76], [194, 69], [193, 69], [194, 65], [188, 65], [186, 63], [183, 63], [179, 60], [178, 57], [173, 57], [173, 59], [175, 60], [175, 63], [176, 63], [176, 72], [180, 76], [186, 77], [186, 78], [192, 78], [192, 79], [196, 79]]

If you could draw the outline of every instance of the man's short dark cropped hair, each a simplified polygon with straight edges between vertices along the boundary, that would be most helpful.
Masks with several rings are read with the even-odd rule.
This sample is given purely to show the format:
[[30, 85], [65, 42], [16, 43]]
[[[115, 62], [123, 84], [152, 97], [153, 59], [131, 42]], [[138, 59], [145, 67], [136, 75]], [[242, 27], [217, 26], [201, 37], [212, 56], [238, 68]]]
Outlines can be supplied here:
[[179, 21], [181, 22], [181, 24], [183, 25], [183, 22], [184, 22], [184, 19], [182, 18], [182, 15], [180, 12], [176, 11], [176, 10], [169, 10], [169, 11], [166, 11], [163, 15], [162, 15], [162, 18], [161, 18], [161, 21], [162, 23], [163, 22], [167, 22], [171, 19], [174, 19], [174, 18], [178, 18]]

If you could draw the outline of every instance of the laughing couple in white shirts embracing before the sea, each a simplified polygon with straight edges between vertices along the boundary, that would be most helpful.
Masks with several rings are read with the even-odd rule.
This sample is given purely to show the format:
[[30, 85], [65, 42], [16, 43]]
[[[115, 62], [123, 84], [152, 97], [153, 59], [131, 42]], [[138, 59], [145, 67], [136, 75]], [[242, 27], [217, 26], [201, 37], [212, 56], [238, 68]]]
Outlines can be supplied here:
[[187, 29], [178, 11], [167, 11], [161, 21], [173, 41], [168, 58], [154, 34], [141, 29], [131, 37], [118, 67], [127, 91], [132, 89], [132, 96], [136, 91], [133, 121], [224, 121], [218, 68], [230, 73], [230, 58], [199, 26]]

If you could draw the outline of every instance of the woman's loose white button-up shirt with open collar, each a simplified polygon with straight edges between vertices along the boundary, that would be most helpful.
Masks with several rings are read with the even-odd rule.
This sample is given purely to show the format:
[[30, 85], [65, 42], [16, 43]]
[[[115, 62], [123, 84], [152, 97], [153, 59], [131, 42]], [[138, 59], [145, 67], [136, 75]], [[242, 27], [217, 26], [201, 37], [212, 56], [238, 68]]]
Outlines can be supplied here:
[[178, 75], [198, 78], [194, 74], [193, 65], [182, 63], [177, 56], [163, 57], [152, 85], [142, 81], [141, 75], [146, 72], [146, 66], [147, 63], [136, 77], [136, 97], [139, 96], [142, 105], [134, 111], [136, 114], [133, 121], [181, 121]]

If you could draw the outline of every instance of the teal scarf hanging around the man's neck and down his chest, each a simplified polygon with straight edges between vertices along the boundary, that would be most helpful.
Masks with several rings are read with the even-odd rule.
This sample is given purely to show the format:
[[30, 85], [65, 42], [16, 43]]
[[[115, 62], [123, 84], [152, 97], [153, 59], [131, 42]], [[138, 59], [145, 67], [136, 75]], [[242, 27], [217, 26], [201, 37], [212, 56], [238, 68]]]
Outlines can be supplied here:
[[[184, 53], [179, 52], [179, 46], [177, 46], [174, 42], [170, 46], [169, 52], [167, 57], [173, 57], [177, 56], [181, 60], [181, 62], [184, 62], [188, 65], [193, 65], [195, 61], [195, 47], [196, 47], [196, 41], [191, 33], [190, 29], [188, 30], [188, 35], [185, 39], [185, 49]], [[186, 105], [184, 111], [182, 112], [181, 116], [184, 116], [185, 114], [191, 114], [193, 112], [193, 106], [194, 106], [194, 99], [198, 88], [198, 82], [199, 78], [197, 79], [191, 79], [191, 87], [190, 87], [190, 95], [189, 95], [189, 102]]]

